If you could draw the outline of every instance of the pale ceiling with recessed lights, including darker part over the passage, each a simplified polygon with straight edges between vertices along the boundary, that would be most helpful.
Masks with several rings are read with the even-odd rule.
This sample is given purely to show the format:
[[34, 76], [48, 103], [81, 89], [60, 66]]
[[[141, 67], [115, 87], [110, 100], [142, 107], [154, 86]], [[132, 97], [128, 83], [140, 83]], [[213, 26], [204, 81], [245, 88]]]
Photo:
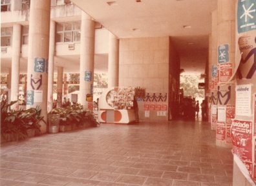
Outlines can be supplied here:
[[204, 73], [217, 0], [71, 1], [118, 38], [170, 36], [185, 74]]

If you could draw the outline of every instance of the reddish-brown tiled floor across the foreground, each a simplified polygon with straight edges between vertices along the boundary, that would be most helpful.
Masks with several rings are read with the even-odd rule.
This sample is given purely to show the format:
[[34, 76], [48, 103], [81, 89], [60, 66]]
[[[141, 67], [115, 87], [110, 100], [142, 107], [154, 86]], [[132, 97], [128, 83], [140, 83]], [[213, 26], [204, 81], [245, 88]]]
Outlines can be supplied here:
[[1, 145], [0, 185], [232, 185], [232, 164], [200, 119], [101, 124]]

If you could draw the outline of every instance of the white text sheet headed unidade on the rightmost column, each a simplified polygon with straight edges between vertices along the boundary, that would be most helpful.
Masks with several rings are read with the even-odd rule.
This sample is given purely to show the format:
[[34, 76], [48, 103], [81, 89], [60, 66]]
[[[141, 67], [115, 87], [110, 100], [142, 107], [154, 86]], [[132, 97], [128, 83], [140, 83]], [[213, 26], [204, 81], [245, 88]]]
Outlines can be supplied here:
[[251, 115], [251, 85], [237, 85], [235, 88], [235, 115]]

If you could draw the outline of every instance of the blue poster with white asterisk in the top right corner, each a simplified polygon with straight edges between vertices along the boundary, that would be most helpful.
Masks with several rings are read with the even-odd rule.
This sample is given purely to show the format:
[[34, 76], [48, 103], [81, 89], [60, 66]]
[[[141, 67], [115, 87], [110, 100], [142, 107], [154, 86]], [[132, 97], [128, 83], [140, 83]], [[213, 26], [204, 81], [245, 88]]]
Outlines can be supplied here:
[[256, 29], [255, 0], [239, 0], [237, 5], [237, 31], [239, 33]]

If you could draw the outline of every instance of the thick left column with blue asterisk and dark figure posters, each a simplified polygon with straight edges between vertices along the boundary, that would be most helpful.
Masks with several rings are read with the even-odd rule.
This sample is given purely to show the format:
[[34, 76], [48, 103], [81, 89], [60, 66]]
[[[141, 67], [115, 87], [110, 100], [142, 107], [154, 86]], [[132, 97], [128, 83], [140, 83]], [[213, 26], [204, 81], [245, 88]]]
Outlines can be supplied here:
[[[50, 0], [30, 1], [28, 32], [28, 83], [27, 108], [41, 109], [41, 116], [47, 121], [48, 54], [50, 32]], [[47, 132], [43, 122], [41, 132]]]

